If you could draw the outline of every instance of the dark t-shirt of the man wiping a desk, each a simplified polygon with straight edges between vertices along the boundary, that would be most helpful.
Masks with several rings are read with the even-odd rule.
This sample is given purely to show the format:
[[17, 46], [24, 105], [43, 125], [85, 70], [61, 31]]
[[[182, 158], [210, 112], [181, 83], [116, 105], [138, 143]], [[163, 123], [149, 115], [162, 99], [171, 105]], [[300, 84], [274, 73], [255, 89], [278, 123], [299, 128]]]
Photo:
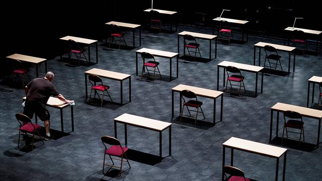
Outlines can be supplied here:
[[59, 92], [53, 83], [44, 78], [33, 79], [27, 84], [29, 89], [27, 100], [46, 104], [51, 95], [57, 96]]

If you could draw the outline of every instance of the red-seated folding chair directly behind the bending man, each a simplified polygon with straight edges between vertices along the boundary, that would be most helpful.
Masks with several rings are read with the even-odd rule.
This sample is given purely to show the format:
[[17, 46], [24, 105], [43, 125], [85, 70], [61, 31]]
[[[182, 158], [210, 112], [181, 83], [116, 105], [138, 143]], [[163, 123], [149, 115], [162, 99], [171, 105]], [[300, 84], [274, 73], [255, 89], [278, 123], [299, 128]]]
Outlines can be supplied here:
[[[31, 150], [34, 149], [34, 138], [35, 138], [35, 134], [37, 134], [37, 136], [39, 136], [40, 140], [43, 142], [42, 145], [44, 145], [44, 141], [43, 139], [41, 138], [38, 130], [41, 128], [40, 125], [38, 125], [37, 123], [32, 123], [30, 118], [24, 114], [20, 114], [20, 113], [17, 113], [16, 114], [16, 119], [17, 121], [19, 122], [19, 138], [18, 138], [18, 148], [20, 149], [19, 147], [19, 143], [21, 140], [25, 140], [26, 144], [27, 144], [27, 137], [28, 134], [32, 134], [32, 145], [31, 145]], [[22, 138], [23, 139], [20, 139], [20, 136], [23, 136]], [[40, 146], [42, 146], [40, 145]], [[38, 146], [39, 147], [39, 146]]]

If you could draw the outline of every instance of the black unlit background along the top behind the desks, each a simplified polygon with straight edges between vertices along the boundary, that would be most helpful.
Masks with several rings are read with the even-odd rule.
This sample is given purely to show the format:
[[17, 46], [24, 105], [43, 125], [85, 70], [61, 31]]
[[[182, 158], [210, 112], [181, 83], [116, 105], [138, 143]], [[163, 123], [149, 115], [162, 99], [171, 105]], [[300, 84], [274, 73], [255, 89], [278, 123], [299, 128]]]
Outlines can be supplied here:
[[[154, 0], [154, 8], [178, 11], [181, 24], [212, 27], [212, 19], [225, 8], [231, 11], [225, 11], [223, 17], [250, 21], [251, 33], [276, 37], [293, 25], [294, 17], [304, 17], [297, 20], [296, 27], [322, 30], [320, 7], [314, 4], [313, 0], [198, 0], [193, 4], [186, 0]], [[17, 52], [52, 58], [61, 51], [60, 37], [105, 39], [104, 23], [114, 20], [142, 24], [143, 10], [149, 7], [151, 0], [6, 2], [0, 7], [1, 57]]]

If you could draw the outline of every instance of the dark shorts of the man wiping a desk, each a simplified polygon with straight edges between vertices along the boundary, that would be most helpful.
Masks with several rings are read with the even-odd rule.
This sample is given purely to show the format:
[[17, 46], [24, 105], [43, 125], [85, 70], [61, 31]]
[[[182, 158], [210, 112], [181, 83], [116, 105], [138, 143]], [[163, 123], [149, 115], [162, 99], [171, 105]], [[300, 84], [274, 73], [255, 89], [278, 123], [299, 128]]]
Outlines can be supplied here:
[[49, 120], [51, 117], [51, 115], [49, 114], [49, 111], [47, 110], [46, 105], [36, 101], [26, 100], [25, 107], [23, 108], [23, 114], [28, 116], [30, 119], [32, 119], [34, 113], [36, 113], [36, 115], [42, 121]]

